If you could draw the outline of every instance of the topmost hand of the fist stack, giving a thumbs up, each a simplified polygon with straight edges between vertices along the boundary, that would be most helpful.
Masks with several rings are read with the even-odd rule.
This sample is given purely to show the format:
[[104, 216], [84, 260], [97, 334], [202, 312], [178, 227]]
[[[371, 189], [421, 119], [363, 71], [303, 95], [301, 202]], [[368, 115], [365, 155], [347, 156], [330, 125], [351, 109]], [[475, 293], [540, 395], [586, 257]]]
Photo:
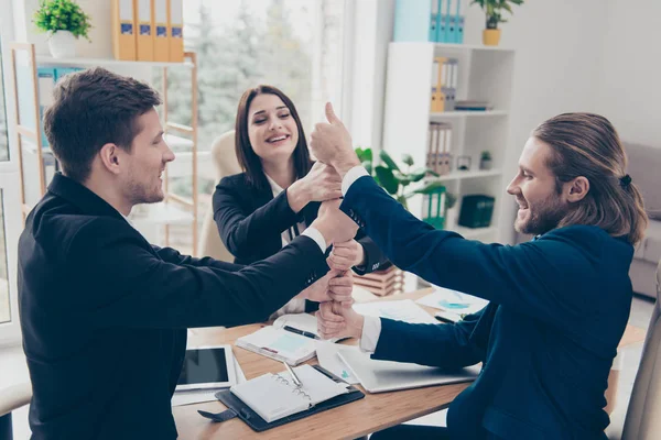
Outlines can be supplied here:
[[314, 156], [326, 165], [333, 166], [340, 177], [356, 165], [360, 165], [351, 146], [351, 135], [335, 114], [330, 102], [326, 103], [326, 119], [314, 127], [310, 148]]

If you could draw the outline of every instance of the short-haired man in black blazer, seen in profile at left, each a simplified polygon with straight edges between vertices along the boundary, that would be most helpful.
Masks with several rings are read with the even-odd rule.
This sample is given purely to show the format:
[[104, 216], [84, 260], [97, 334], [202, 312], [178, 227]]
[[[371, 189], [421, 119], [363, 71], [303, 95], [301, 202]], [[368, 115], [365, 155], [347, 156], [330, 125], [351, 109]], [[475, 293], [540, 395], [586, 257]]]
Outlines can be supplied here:
[[126, 217], [163, 200], [174, 160], [159, 103], [149, 86], [95, 68], [58, 82], [45, 112], [63, 174], [28, 216], [18, 271], [34, 438], [176, 438], [170, 400], [187, 327], [260, 321], [304, 288], [350, 299], [349, 277], [314, 283], [326, 243], [356, 233], [337, 201], [250, 266], [152, 246], [133, 229]]

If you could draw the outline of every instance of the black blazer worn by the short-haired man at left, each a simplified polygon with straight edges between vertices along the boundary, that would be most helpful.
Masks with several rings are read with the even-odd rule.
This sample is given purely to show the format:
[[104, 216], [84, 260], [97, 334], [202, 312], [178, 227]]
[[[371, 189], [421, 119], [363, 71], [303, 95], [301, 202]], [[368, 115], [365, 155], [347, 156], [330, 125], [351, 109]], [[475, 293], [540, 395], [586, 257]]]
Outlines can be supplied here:
[[37, 439], [174, 439], [186, 327], [266, 319], [328, 271], [307, 237], [251, 266], [152, 246], [55, 175], [19, 241], [19, 305]]

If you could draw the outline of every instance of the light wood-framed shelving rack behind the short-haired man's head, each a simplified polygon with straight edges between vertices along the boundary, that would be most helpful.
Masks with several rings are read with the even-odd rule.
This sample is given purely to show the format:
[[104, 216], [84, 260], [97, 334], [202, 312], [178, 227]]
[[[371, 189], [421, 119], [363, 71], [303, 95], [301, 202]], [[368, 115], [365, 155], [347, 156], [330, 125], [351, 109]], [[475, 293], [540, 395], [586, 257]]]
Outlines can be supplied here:
[[[34, 45], [29, 43], [11, 43], [11, 77], [13, 79], [14, 100], [17, 113], [20, 116], [15, 124], [17, 143], [19, 144], [19, 163], [21, 167], [21, 204], [23, 215], [45, 194], [46, 187], [55, 173], [55, 158], [48, 146], [42, 145], [42, 132], [37, 129], [40, 116], [40, 84], [39, 67], [94, 67], [102, 66], [121, 75], [129, 75], [142, 80], [150, 80], [153, 68], [163, 69], [166, 81], [167, 69], [181, 67], [191, 72], [192, 90], [192, 125], [186, 127], [171, 122], [167, 118], [167, 95], [162, 90], [163, 97], [163, 127], [166, 131], [165, 141], [177, 153], [187, 157], [187, 170], [178, 166], [176, 177], [192, 176], [192, 197], [183, 197], [169, 191], [167, 172], [164, 178], [165, 200], [148, 207], [141, 206], [133, 209], [130, 216], [133, 224], [148, 240], [161, 245], [169, 245], [171, 226], [191, 226], [192, 253], [197, 251], [197, 57], [195, 53], [186, 52], [183, 63], [166, 62], [133, 62], [112, 58], [53, 58], [36, 56]], [[147, 77], [147, 78], [145, 78]], [[149, 79], [148, 79], [149, 78]], [[22, 87], [20, 87], [22, 86]], [[21, 96], [20, 91], [22, 92]], [[42, 90], [43, 91], [43, 90]], [[20, 106], [25, 107], [21, 117]], [[24, 119], [24, 120], [23, 120]], [[175, 135], [173, 133], [182, 134]], [[45, 166], [47, 165], [47, 166]], [[25, 169], [33, 170], [26, 173]]]

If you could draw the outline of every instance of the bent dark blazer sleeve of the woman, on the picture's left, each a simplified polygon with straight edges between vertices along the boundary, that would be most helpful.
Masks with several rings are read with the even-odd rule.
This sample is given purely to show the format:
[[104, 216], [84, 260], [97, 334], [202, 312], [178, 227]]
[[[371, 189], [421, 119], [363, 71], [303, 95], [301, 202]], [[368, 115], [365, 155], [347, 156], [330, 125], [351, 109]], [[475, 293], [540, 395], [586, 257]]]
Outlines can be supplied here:
[[[248, 194], [242, 191], [243, 197]], [[253, 212], [240, 204], [241, 193], [234, 182], [224, 178], [214, 193], [214, 220], [223, 242], [236, 257], [249, 258], [268, 237], [280, 235], [297, 221], [289, 206], [286, 190]]]

